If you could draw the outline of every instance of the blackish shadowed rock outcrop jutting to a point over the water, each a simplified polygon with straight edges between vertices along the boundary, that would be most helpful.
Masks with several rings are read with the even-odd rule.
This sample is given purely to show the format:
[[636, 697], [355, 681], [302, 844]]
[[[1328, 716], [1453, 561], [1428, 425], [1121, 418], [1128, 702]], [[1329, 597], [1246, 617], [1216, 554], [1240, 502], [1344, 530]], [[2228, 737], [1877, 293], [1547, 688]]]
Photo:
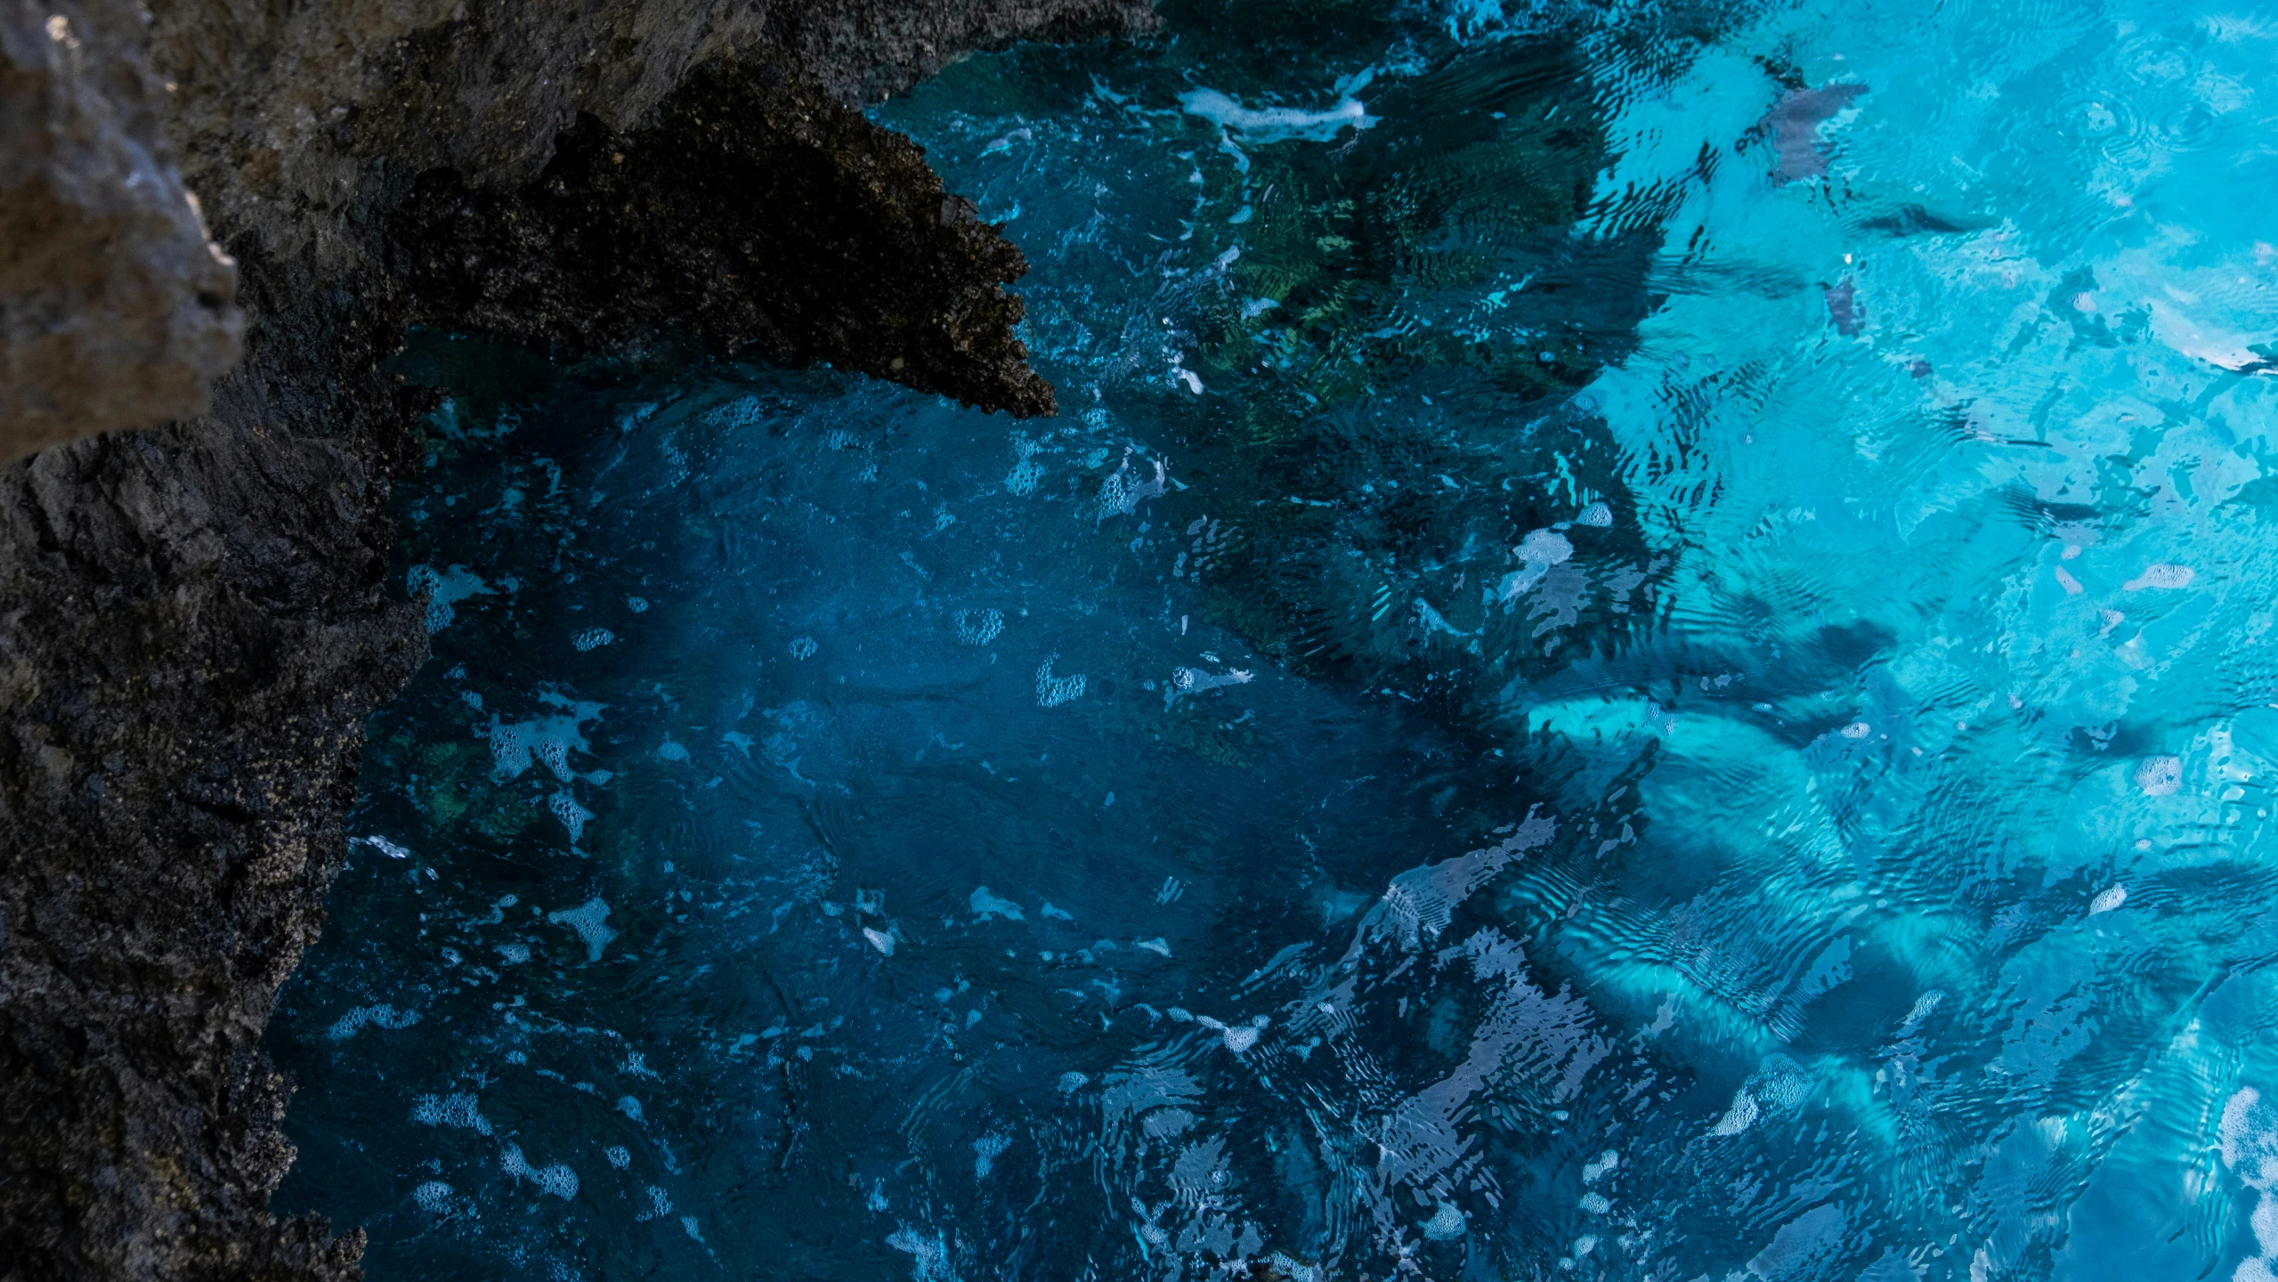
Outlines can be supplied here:
[[1027, 271], [909, 139], [777, 64], [708, 66], [645, 128], [585, 116], [535, 182], [419, 180], [390, 225], [415, 319], [599, 348], [718, 335], [984, 410], [1050, 414], [1011, 337]]

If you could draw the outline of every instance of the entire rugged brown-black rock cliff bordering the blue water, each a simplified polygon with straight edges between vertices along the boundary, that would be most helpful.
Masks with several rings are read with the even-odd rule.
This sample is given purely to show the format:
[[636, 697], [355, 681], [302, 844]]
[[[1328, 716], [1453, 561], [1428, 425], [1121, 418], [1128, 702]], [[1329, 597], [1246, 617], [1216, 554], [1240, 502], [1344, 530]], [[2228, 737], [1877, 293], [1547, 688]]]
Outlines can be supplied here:
[[[0, 0], [0, 458], [39, 451], [0, 469], [0, 1280], [358, 1275], [358, 1234], [267, 1214], [257, 1038], [362, 722], [426, 654], [383, 590], [403, 328], [672, 332], [1050, 412], [1018, 253], [847, 102], [1146, 23]], [[146, 430], [71, 439], [105, 428]]]

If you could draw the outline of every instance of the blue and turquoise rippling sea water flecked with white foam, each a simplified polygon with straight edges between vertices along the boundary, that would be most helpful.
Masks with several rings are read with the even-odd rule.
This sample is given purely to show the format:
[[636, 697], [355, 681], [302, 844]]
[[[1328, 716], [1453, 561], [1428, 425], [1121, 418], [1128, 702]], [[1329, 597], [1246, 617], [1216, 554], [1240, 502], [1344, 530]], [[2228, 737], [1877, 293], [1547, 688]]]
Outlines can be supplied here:
[[2278, 9], [1239, 2], [879, 109], [1064, 417], [426, 339], [374, 1277], [2278, 1268]]

